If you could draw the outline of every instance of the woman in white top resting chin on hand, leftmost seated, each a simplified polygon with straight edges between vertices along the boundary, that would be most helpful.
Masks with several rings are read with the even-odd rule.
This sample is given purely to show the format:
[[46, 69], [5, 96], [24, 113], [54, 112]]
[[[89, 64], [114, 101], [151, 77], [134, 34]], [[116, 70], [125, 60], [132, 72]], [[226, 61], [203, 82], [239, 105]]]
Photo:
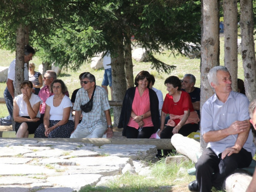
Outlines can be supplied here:
[[33, 94], [31, 81], [23, 81], [20, 84], [22, 94], [16, 96], [13, 101], [13, 119], [15, 121], [16, 137], [28, 137], [33, 134], [39, 125], [39, 106], [41, 99]]

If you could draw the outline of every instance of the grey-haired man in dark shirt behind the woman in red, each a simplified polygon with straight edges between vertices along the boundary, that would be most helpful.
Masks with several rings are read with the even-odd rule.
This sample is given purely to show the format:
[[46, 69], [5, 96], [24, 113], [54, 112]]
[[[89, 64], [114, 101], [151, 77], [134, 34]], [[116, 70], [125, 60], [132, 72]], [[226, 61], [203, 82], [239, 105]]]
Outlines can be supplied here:
[[181, 83], [182, 90], [186, 91], [191, 98], [193, 108], [200, 118], [200, 88], [195, 87], [196, 77], [192, 74], [185, 74]]

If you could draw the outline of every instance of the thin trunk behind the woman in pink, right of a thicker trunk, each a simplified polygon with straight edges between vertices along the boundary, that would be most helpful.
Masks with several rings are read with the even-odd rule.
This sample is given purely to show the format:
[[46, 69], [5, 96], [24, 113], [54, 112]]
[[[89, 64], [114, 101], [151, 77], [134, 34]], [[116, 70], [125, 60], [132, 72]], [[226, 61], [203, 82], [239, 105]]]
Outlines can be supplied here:
[[127, 39], [125, 39], [124, 41], [124, 67], [125, 67], [126, 89], [128, 89], [128, 88], [134, 87], [134, 76], [133, 76], [133, 59], [132, 59], [130, 28], [127, 28], [126, 32], [127, 32]]

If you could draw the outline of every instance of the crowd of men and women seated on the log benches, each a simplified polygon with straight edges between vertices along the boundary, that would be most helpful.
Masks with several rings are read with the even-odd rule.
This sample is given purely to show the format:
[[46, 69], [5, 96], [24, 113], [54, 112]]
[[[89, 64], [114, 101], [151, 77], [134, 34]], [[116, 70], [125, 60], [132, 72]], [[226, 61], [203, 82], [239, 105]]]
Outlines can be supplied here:
[[[208, 145], [196, 163], [196, 180], [188, 185], [190, 191], [211, 191], [212, 186], [221, 190], [230, 173], [250, 165], [256, 150], [242, 80], [238, 79], [239, 93], [232, 91], [231, 76], [225, 67], [212, 68], [207, 77], [215, 94], [204, 103], [200, 120], [200, 89], [195, 87], [194, 75], [186, 74], [182, 80], [167, 77], [164, 84], [168, 93], [163, 100], [161, 91], [153, 88], [154, 76], [139, 72], [135, 87], [126, 90], [118, 124], [126, 138], [155, 135], [170, 139], [177, 133], [188, 136], [197, 132], [200, 122]], [[55, 72], [47, 71], [43, 80], [45, 87], [38, 96], [33, 93], [31, 81], [20, 85], [22, 94], [14, 98], [13, 104], [16, 137], [33, 133], [34, 137], [44, 138], [113, 137], [108, 94], [96, 86], [93, 74], [80, 74], [81, 88], [74, 91], [72, 101]], [[255, 123], [255, 103], [250, 105], [251, 123]], [[163, 150], [164, 156], [169, 153]]]

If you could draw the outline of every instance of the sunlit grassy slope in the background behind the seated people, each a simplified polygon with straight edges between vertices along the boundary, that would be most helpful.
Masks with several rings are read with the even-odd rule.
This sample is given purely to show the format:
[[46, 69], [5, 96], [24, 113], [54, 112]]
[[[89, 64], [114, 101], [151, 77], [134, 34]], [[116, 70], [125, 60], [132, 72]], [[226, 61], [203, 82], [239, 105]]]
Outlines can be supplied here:
[[[224, 37], [220, 37], [220, 47], [221, 47], [221, 52], [220, 52], [220, 65], [224, 65]], [[172, 71], [170, 74], [158, 74], [156, 70], [151, 69], [151, 62], [137, 62], [133, 60], [133, 74], [134, 77], [138, 74], [138, 72], [142, 70], [147, 70], [148, 72], [152, 73], [155, 78], [155, 88], [159, 89], [162, 91], [163, 96], [165, 97], [166, 92], [166, 87], [164, 86], [164, 80], [170, 75], [175, 75], [180, 78], [184, 76], [186, 73], [191, 73], [196, 76], [196, 87], [200, 87], [200, 59], [189, 59], [185, 56], [177, 55], [173, 56], [170, 54], [169, 51], [164, 51], [164, 54], [157, 54], [155, 55], [157, 58], [160, 60], [164, 61], [168, 65], [174, 65], [177, 66], [174, 71]], [[2, 58], [0, 58], [0, 66], [3, 67], [8, 67], [11, 63], [11, 61], [15, 58], [15, 53], [11, 53], [10, 51], [6, 50], [0, 50], [0, 54], [2, 55]], [[34, 57], [32, 62], [35, 63], [36, 65], [36, 70], [38, 71], [38, 66], [42, 63], [42, 61], [38, 57]], [[70, 98], [73, 93], [73, 91], [77, 88], [80, 87], [79, 84], [79, 79], [78, 76], [82, 72], [90, 72], [95, 75], [96, 78], [96, 84], [101, 85], [104, 70], [99, 69], [99, 70], [93, 70], [90, 67], [90, 63], [84, 63], [81, 68], [74, 72], [71, 70], [62, 70], [61, 74], [58, 76], [58, 78], [62, 79], [69, 90], [70, 93]], [[241, 55], [238, 55], [238, 78], [244, 80], [244, 70], [242, 67], [242, 58]], [[4, 90], [6, 88], [6, 82], [0, 82], [0, 97], [4, 97]], [[110, 93], [110, 89], [109, 89]], [[109, 95], [110, 99], [110, 95]], [[113, 114], [113, 112], [112, 112]], [[0, 117], [5, 117], [8, 115], [8, 111], [6, 108], [6, 104], [0, 104]], [[113, 115], [112, 115], [112, 121], [113, 121]]]

